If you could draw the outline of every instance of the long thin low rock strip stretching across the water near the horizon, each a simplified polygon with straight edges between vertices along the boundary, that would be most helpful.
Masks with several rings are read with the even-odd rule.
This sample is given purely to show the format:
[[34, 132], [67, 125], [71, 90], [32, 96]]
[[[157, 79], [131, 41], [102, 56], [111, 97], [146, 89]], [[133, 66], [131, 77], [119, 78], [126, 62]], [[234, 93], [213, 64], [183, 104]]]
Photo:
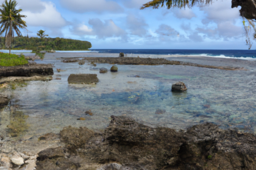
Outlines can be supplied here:
[[136, 57], [73, 57], [73, 58], [59, 58], [63, 63], [78, 63], [85, 60], [93, 63], [107, 63], [107, 64], [124, 64], [124, 65], [182, 65], [204, 67], [208, 69], [221, 69], [221, 70], [246, 70], [243, 67], [223, 67], [223, 66], [207, 66], [196, 63], [188, 63], [182, 61], [170, 61], [164, 58], [136, 58]]

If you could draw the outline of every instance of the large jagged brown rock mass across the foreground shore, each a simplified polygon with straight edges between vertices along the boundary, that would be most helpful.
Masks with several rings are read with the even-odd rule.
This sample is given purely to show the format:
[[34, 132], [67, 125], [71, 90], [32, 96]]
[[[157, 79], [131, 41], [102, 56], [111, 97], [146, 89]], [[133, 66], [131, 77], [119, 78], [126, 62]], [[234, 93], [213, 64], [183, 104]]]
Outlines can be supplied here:
[[[256, 169], [256, 135], [204, 123], [176, 132], [112, 116], [104, 134], [60, 132], [66, 146], [40, 152], [40, 169]], [[65, 153], [65, 157], [63, 156]], [[51, 166], [53, 168], [51, 168]]]

